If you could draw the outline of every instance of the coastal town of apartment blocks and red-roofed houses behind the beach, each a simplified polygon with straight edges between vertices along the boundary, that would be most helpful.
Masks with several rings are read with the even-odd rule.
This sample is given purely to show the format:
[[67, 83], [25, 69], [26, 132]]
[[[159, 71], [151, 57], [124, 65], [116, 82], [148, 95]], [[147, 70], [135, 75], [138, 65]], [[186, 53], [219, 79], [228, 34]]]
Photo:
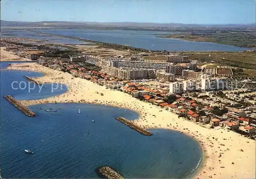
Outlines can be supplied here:
[[40, 65], [71, 73], [74, 78], [128, 93], [203, 127], [222, 127], [255, 139], [256, 81], [232, 79], [234, 71], [239, 70], [236, 67], [199, 65], [187, 56], [171, 53], [101, 57], [100, 53], [97, 56], [76, 51], [66, 58], [48, 57], [49, 52], [61, 56], [66, 49], [15, 44], [22, 40], [5, 38], [1, 47]]

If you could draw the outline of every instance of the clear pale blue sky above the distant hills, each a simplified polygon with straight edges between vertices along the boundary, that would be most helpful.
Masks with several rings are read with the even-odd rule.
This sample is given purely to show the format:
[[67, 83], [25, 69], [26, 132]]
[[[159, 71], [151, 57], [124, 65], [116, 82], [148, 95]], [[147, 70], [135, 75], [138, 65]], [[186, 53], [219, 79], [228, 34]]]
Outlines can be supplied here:
[[1, 19], [158, 23], [255, 23], [256, 0], [1, 0]]

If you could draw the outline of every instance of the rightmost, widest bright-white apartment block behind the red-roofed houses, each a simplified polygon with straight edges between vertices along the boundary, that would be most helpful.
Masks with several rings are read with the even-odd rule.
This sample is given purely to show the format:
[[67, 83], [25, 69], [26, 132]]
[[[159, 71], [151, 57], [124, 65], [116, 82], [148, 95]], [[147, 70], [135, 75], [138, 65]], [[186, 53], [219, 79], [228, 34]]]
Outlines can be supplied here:
[[227, 88], [227, 79], [202, 79], [202, 90], [222, 90]]

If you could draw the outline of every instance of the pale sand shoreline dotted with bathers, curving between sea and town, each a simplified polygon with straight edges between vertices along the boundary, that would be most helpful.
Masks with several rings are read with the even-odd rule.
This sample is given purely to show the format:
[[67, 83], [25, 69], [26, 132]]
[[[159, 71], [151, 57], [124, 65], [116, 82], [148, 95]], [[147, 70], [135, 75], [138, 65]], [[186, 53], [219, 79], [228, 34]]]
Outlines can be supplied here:
[[[29, 67], [28, 67], [28, 65], [29, 65]], [[57, 101], [57, 103], [74, 103], [74, 101], [79, 101], [82, 98], [84, 98], [82, 95], [82, 94], [84, 94], [84, 95], [86, 95], [87, 100], [83, 99], [83, 101], [88, 104], [108, 105], [108, 106], [114, 106], [114, 107], [125, 108], [125, 109], [130, 109], [130, 110], [136, 111], [137, 113], [139, 113], [140, 117], [138, 119], [135, 119], [134, 122], [140, 126], [146, 127], [146, 129], [154, 128], [154, 129], [168, 129], [168, 130], [182, 131], [186, 136], [193, 138], [196, 142], [198, 142], [198, 144], [201, 147], [202, 152], [203, 152], [203, 155], [202, 155], [203, 160], [202, 160], [201, 164], [195, 169], [196, 171], [191, 174], [193, 177], [198, 177], [198, 178], [206, 178], [207, 177], [208, 178], [209, 176], [211, 176], [211, 177], [215, 177], [215, 178], [229, 178], [232, 176], [233, 178], [241, 178], [241, 177], [254, 177], [255, 176], [255, 172], [253, 171], [253, 169], [255, 168], [255, 161], [252, 161], [252, 160], [250, 162], [245, 161], [245, 162], [241, 163], [240, 166], [237, 166], [236, 169], [234, 169], [236, 172], [239, 172], [239, 173], [236, 173], [236, 172], [234, 173], [233, 171], [229, 171], [227, 169], [220, 169], [220, 166], [224, 165], [227, 167], [228, 164], [229, 164], [229, 167], [234, 168], [236, 166], [236, 164], [232, 165], [230, 162], [230, 159], [232, 160], [232, 157], [236, 156], [236, 155], [234, 155], [232, 153], [232, 154], [229, 154], [229, 157], [226, 156], [225, 160], [224, 160], [224, 158], [221, 158], [224, 161], [222, 162], [223, 163], [222, 165], [219, 165], [218, 164], [219, 163], [218, 162], [218, 154], [216, 155], [215, 153], [216, 152], [218, 153], [218, 150], [222, 150], [222, 149], [224, 149], [224, 151], [222, 151], [222, 152], [228, 153], [228, 151], [231, 149], [228, 149], [228, 151], [226, 151], [225, 147], [222, 145], [218, 146], [218, 144], [217, 144], [216, 146], [214, 146], [213, 142], [211, 142], [211, 140], [209, 140], [209, 138], [215, 139], [216, 136], [218, 138], [222, 138], [222, 137], [225, 137], [225, 135], [227, 135], [225, 138], [228, 138], [230, 136], [230, 139], [232, 137], [231, 141], [233, 141], [233, 140], [235, 140], [236, 142], [243, 141], [242, 146], [240, 144], [236, 144], [236, 142], [229, 141], [230, 144], [237, 145], [237, 147], [232, 148], [233, 152], [235, 152], [234, 150], [239, 149], [238, 147], [243, 147], [243, 148], [249, 149], [250, 148], [249, 145], [251, 143], [252, 143], [252, 145], [254, 144], [254, 146], [255, 146], [255, 141], [244, 138], [244, 137], [239, 136], [232, 132], [228, 133], [223, 130], [210, 130], [210, 129], [201, 127], [193, 122], [189, 122], [189, 121], [183, 120], [181, 118], [178, 119], [177, 115], [174, 113], [163, 110], [162, 108], [157, 107], [155, 105], [140, 101], [140, 100], [133, 98], [132, 96], [125, 94], [123, 92], [105, 89], [104, 87], [100, 87], [99, 85], [94, 84], [93, 82], [87, 81], [85, 79], [74, 78], [74, 80], [73, 80], [75, 82], [75, 85], [74, 85], [74, 83], [73, 84], [70, 83], [70, 81], [72, 81], [71, 78], [73, 76], [69, 73], [66, 74], [64, 72], [55, 71], [50, 68], [46, 68], [44, 66], [34, 64], [34, 63], [32, 63], [32, 64], [26, 63], [25, 65], [22, 63], [13, 64], [13, 65], [9, 66], [7, 69], [20, 69], [20, 70], [41, 72], [41, 73], [44, 73], [45, 76], [36, 78], [39, 82], [61, 83], [61, 84], [65, 84], [66, 86], [68, 86], [68, 91], [66, 93], [63, 93], [63, 94], [60, 94], [60, 95], [57, 95], [54, 97], [38, 99], [38, 100], [22, 100], [21, 102], [25, 106], [43, 104], [43, 103], [49, 103], [49, 102], [55, 103], [55, 101]], [[61, 75], [63, 77], [63, 79], [58, 78], [57, 77], [58, 75]], [[79, 86], [77, 84], [79, 82], [83, 83], [84, 86], [82, 86], [82, 87]], [[72, 86], [72, 85], [74, 85], [74, 86]], [[88, 86], [90, 86], [90, 88], [88, 88], [88, 90], [86, 90], [85, 88]], [[78, 93], [78, 91], [79, 91], [79, 93]], [[96, 93], [98, 91], [103, 91], [104, 95], [100, 96], [100, 94]], [[84, 93], [82, 93], [82, 92], [84, 92]], [[121, 100], [120, 100], [120, 97], [121, 97]], [[97, 98], [97, 100], [95, 100], [96, 98]], [[114, 100], [113, 100], [113, 98], [114, 98]], [[106, 101], [104, 99], [106, 99]], [[126, 101], [126, 103], [123, 103], [123, 101]], [[163, 110], [163, 111], [161, 113], [159, 113], [160, 112], [159, 110], [160, 111]], [[148, 113], [150, 113], [150, 114], [148, 114]], [[157, 116], [160, 115], [160, 118], [159, 117], [156, 118], [152, 114], [157, 115]], [[168, 118], [168, 119], [166, 119], [166, 118]], [[170, 120], [170, 118], [173, 118], [173, 119]], [[164, 121], [160, 121], [161, 119]], [[150, 122], [148, 123], [148, 121], [150, 121]], [[172, 122], [172, 123], [176, 122], [176, 124], [175, 124], [175, 127], [173, 127], [173, 124], [170, 127], [168, 125], [168, 123], [164, 123], [164, 122]], [[178, 122], [179, 122], [179, 127], [177, 125]], [[157, 125], [154, 126], [155, 123], [157, 123], [158, 126]], [[182, 124], [185, 126], [183, 126]], [[184, 127], [189, 128], [190, 131], [187, 132], [186, 130], [184, 130], [185, 129]], [[222, 133], [224, 133], [225, 135]], [[229, 140], [229, 139], [223, 139], [223, 142], [224, 142], [224, 140], [225, 140], [225, 142], [227, 142], [227, 140]], [[215, 142], [215, 140], [214, 140], [214, 142]], [[212, 147], [211, 147], [211, 144], [213, 145]], [[225, 145], [227, 145], [227, 144], [225, 143]], [[212, 151], [211, 154], [209, 153], [210, 149], [214, 150], [214, 152]], [[249, 150], [252, 150], [252, 149], [249, 149]], [[239, 151], [239, 152], [236, 151], [236, 152], [238, 153], [237, 156], [239, 156], [239, 154], [243, 155], [242, 158], [251, 158], [252, 159], [253, 156], [255, 156], [255, 154], [253, 153], [253, 150], [248, 152], [248, 154], [246, 152], [241, 153], [241, 151]], [[223, 154], [223, 156], [224, 156], [224, 154]], [[240, 161], [242, 161], [242, 160], [240, 160]], [[237, 162], [235, 162], [235, 163], [237, 163]], [[247, 168], [245, 167], [246, 164], [248, 166]], [[214, 168], [214, 169], [212, 169], [212, 168]], [[246, 168], [247, 171], [244, 171], [244, 168]], [[219, 171], [221, 171], [221, 172], [219, 172]], [[245, 175], [245, 173], [247, 175]]]

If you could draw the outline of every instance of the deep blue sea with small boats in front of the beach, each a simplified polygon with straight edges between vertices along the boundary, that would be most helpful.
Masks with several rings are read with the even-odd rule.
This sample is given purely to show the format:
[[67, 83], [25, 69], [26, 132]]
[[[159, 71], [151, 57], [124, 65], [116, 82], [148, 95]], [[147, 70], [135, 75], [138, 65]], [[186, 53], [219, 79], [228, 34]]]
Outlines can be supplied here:
[[[103, 165], [125, 178], [185, 178], [201, 164], [199, 144], [184, 134], [151, 129], [152, 136], [143, 136], [114, 119], [136, 119], [139, 115], [134, 111], [92, 104], [38, 104], [29, 106], [36, 117], [28, 117], [3, 96], [35, 99], [63, 93], [67, 88], [51, 92], [46, 86], [40, 93], [36, 93], [38, 88], [33, 92], [13, 90], [13, 81], [42, 74], [0, 72], [3, 178], [98, 178], [95, 169]], [[50, 108], [56, 112], [44, 110]]]

